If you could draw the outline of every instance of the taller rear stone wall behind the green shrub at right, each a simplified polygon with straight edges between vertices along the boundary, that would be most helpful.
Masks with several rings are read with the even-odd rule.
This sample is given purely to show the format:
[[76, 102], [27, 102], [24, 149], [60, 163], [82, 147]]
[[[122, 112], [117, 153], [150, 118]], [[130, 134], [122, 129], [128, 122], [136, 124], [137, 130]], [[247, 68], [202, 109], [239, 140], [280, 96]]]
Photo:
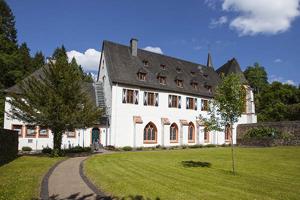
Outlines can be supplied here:
[[244, 135], [252, 127], [270, 127], [278, 130], [277, 137], [288, 135], [290, 137], [300, 137], [300, 121], [274, 121], [265, 123], [245, 123], [236, 127], [236, 138], [244, 138]]

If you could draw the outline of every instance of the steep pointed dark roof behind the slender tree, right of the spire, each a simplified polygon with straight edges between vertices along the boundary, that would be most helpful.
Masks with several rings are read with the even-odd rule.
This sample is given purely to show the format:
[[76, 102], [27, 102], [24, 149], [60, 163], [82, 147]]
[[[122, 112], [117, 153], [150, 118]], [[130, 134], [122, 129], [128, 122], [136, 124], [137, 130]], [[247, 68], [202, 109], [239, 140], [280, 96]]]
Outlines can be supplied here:
[[221, 73], [224, 73], [225, 76], [227, 76], [231, 73], [238, 74], [238, 75], [240, 75], [241, 82], [242, 83], [246, 82], [246, 78], [245, 78], [242, 70], [240, 69], [240, 66], [239, 66], [239, 64], [238, 64], [235, 57], [228, 60], [225, 64], [223, 64], [221, 67], [219, 67], [215, 71], [218, 73], [219, 76], [220, 76]]

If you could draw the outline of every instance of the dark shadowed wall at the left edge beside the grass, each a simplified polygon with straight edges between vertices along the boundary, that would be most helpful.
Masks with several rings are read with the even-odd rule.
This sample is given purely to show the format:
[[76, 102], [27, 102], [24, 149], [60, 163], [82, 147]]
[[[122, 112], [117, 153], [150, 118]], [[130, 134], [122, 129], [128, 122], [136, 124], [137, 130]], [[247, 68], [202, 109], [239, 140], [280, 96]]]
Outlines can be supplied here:
[[0, 128], [0, 166], [17, 157], [17, 133], [16, 130]]

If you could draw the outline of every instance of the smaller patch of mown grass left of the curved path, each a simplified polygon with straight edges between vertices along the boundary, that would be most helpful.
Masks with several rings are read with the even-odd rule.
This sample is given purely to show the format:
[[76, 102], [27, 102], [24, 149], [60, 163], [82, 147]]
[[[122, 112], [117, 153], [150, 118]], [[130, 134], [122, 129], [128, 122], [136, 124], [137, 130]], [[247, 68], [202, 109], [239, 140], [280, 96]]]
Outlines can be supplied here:
[[0, 199], [39, 199], [43, 176], [64, 158], [23, 155], [0, 166]]

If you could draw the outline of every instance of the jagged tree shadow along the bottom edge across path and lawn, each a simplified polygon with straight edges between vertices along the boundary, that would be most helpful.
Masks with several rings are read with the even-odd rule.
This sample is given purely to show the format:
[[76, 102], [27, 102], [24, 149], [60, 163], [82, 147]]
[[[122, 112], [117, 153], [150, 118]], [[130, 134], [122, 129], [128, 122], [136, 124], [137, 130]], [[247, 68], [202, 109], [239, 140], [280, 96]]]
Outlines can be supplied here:
[[[64, 198], [64, 199], [76, 199], [76, 200], [87, 200], [87, 199], [94, 199], [94, 200], [125, 200], [125, 199], [129, 199], [129, 200], [151, 200], [150, 198], [145, 198], [142, 195], [129, 195], [129, 196], [124, 196], [124, 197], [113, 197], [113, 196], [99, 196], [97, 195], [96, 197], [91, 197], [93, 195], [93, 193], [90, 194], [86, 194], [86, 195], [82, 195], [80, 196], [79, 194], [80, 192], [74, 193], [69, 195], [68, 197]], [[61, 198], [58, 197], [58, 194], [55, 195], [51, 195], [49, 196], [50, 200], [60, 200]], [[160, 200], [160, 198], [156, 197], [153, 200]]]

